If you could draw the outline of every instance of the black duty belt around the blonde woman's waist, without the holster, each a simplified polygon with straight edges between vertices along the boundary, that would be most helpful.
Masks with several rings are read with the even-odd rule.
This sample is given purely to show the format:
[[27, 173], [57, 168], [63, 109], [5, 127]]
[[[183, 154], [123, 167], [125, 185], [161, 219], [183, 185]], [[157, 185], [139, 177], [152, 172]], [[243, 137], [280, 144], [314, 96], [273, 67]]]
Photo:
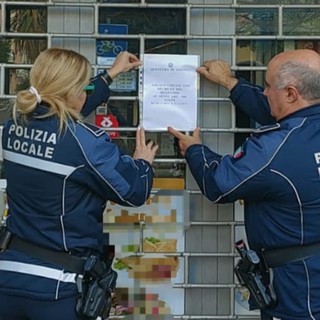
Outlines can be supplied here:
[[0, 232], [1, 250], [18, 250], [31, 257], [61, 266], [65, 271], [83, 274], [86, 259], [67, 252], [50, 250], [29, 241], [20, 239], [5, 228]]

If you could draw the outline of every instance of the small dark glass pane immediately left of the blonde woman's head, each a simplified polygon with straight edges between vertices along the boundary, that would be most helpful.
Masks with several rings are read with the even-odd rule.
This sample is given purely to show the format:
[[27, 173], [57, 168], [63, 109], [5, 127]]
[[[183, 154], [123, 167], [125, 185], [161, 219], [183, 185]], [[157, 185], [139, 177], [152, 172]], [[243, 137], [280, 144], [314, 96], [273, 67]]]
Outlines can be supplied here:
[[29, 88], [29, 69], [5, 69], [5, 94], [14, 95], [20, 90]]

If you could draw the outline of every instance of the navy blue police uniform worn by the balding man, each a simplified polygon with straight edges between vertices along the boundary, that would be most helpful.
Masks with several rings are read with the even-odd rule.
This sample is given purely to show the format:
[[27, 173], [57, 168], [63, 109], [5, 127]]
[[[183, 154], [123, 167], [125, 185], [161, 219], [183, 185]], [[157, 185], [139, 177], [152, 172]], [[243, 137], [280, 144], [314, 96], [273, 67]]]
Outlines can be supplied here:
[[[241, 80], [235, 105], [263, 124], [275, 123], [262, 89]], [[251, 249], [320, 241], [320, 105], [262, 126], [241, 152], [221, 156], [204, 145], [187, 149], [186, 160], [212, 202], [245, 200]], [[266, 314], [282, 320], [320, 319], [320, 255], [273, 269], [278, 297]]]

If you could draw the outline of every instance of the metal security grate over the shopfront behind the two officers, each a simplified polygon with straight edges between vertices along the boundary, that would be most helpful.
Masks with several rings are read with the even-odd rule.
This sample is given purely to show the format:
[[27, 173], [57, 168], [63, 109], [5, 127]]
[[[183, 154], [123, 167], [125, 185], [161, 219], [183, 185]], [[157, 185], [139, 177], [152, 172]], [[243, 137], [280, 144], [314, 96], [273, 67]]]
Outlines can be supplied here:
[[[28, 86], [28, 72], [36, 56], [53, 46], [84, 54], [94, 74], [106, 67], [97, 57], [97, 41], [108, 41], [115, 52], [117, 42], [124, 41], [128, 50], [139, 56], [153, 52], [197, 54], [201, 61], [225, 59], [238, 76], [261, 85], [274, 54], [293, 48], [320, 52], [317, 0], [308, 4], [298, 0], [185, 2], [2, 0], [0, 122], [9, 117], [15, 92]], [[32, 23], [26, 25], [25, 21]], [[99, 30], [102, 23], [126, 24], [129, 32], [103, 34]], [[126, 134], [127, 147], [139, 123], [139, 86], [138, 82], [129, 93], [115, 92], [110, 99], [121, 116], [129, 119], [112, 129]], [[201, 81], [199, 126], [204, 143], [219, 153], [233, 153], [255, 125], [235, 110], [228, 96], [225, 89]], [[94, 121], [94, 116], [89, 119]], [[167, 146], [164, 133], [158, 133], [157, 139]], [[180, 254], [185, 261], [185, 279], [174, 285], [185, 290], [185, 312], [174, 318], [258, 319], [256, 313], [246, 313], [235, 303], [239, 291], [233, 276], [233, 243], [243, 232], [241, 204], [213, 205], [204, 199], [175, 151], [155, 163], [165, 174], [172, 168], [182, 170], [191, 199], [186, 251]]]

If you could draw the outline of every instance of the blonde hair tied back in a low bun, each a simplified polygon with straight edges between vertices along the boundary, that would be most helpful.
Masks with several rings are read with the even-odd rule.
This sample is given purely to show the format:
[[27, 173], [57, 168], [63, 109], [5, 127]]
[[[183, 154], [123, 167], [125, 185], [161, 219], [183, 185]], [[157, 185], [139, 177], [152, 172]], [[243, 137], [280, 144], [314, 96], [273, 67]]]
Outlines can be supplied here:
[[81, 120], [81, 115], [68, 104], [68, 98], [82, 93], [90, 75], [90, 62], [75, 51], [50, 48], [41, 52], [30, 72], [30, 85], [36, 88], [40, 97], [32, 90], [18, 92], [13, 118], [16, 121], [19, 115], [19, 119], [27, 121], [37, 107], [37, 98], [41, 98], [41, 102], [49, 107], [49, 111], [41, 117], [56, 115], [60, 130], [70, 118]]

